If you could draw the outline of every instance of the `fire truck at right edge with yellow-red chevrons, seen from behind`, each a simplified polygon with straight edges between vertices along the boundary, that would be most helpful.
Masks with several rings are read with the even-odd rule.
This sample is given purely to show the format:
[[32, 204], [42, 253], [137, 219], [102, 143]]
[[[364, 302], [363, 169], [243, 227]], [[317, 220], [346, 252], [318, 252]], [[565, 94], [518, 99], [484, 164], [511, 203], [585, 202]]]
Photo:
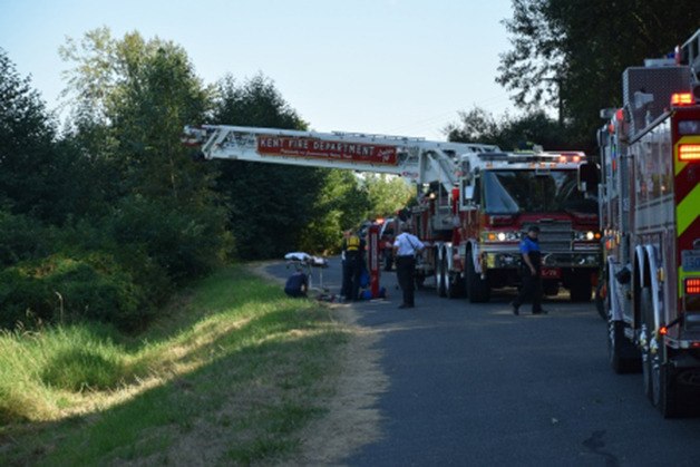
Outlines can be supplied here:
[[601, 110], [609, 360], [643, 373], [664, 417], [700, 383], [700, 30], [673, 58], [624, 70]]

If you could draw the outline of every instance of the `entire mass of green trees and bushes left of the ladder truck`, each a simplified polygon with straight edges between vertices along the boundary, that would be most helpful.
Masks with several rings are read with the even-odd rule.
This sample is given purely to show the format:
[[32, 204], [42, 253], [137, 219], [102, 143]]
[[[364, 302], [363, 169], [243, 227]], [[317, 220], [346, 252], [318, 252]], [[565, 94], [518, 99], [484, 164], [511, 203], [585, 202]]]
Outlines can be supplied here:
[[0, 50], [2, 328], [89, 319], [138, 329], [223, 260], [333, 251], [342, 230], [401, 205], [370, 202], [397, 181], [195, 160], [179, 142], [187, 124], [307, 128], [262, 75], [205, 86], [181, 47], [106, 28], [60, 55], [70, 68], [59, 134]]

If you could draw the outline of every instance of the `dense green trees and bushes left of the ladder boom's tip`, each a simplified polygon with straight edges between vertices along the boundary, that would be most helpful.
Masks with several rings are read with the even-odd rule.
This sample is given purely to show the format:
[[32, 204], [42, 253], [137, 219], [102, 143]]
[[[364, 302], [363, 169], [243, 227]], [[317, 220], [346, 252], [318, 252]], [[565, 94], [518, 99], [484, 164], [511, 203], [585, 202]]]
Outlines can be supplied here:
[[137, 33], [91, 31], [64, 57], [77, 64], [67, 93], [76, 105], [59, 137], [0, 56], [0, 325], [135, 329], [230, 244], [215, 173], [179, 144], [208, 94], [182, 49]]

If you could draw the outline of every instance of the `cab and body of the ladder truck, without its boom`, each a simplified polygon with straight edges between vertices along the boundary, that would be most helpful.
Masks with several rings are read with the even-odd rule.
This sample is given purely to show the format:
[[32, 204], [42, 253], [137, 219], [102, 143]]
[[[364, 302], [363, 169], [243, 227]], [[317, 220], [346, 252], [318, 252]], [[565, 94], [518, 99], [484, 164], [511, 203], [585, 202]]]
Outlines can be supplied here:
[[486, 302], [493, 289], [518, 285], [519, 242], [541, 230], [543, 288], [591, 299], [600, 264], [597, 171], [581, 152], [470, 153], [459, 185], [431, 185], [411, 210], [417, 234], [431, 246], [419, 280], [432, 275], [438, 294]]

